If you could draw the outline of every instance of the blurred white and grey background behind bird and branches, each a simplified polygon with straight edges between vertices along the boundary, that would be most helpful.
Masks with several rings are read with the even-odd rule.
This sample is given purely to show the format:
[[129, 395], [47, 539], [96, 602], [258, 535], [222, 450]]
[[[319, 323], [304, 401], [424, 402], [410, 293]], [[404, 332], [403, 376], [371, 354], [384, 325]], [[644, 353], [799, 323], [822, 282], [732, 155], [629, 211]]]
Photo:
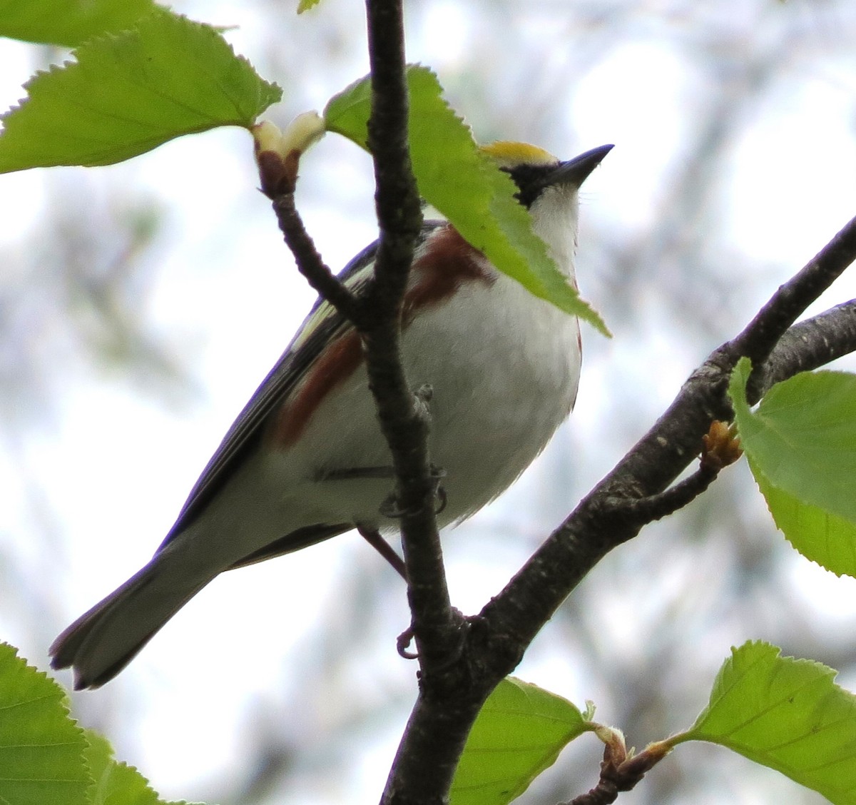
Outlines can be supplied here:
[[[280, 125], [367, 72], [363, 9], [173, 3], [283, 86]], [[514, 488], [444, 545], [478, 611], [662, 413], [711, 349], [856, 213], [856, 7], [847, 0], [421, 0], [430, 65], [479, 140], [563, 158], [586, 182], [578, 273], [612, 340], [583, 333], [574, 416]], [[6, 104], [67, 51], [3, 40]], [[374, 235], [372, 170], [331, 135], [301, 164], [327, 262]], [[0, 637], [47, 668], [56, 633], [144, 564], [312, 304], [247, 132], [96, 170], [0, 176]], [[856, 295], [843, 278], [813, 308]], [[853, 361], [850, 361], [851, 367]], [[413, 703], [401, 581], [353, 534], [227, 574], [75, 715], [165, 798], [377, 802]], [[610, 554], [517, 674], [592, 700], [642, 747], [686, 728], [729, 647], [764, 639], [853, 689], [856, 582], [777, 534], [745, 462]], [[57, 675], [70, 683], [66, 672]], [[597, 780], [593, 736], [521, 802]], [[715, 747], [683, 746], [621, 802], [823, 802]]]

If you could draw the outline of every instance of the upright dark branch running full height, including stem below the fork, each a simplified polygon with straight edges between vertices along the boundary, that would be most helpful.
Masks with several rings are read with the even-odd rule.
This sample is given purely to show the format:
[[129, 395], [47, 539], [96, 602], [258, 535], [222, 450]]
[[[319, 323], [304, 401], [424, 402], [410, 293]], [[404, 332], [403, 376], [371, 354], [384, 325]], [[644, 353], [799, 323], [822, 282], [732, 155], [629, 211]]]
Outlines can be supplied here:
[[[454, 659], [460, 651], [463, 621], [451, 608], [437, 534], [437, 486], [427, 450], [425, 403], [414, 398], [401, 368], [401, 301], [422, 224], [407, 146], [401, 0], [367, 0], [366, 9], [372, 62], [369, 150], [375, 164], [380, 228], [375, 279], [363, 298], [363, 305], [376, 312], [371, 324], [366, 321], [364, 331], [366, 363], [398, 480], [395, 503], [401, 511], [407, 595], [421, 670], [419, 698], [382, 802], [412, 805], [440, 802], [449, 790], [469, 725], [482, 700], [478, 695], [476, 700], [450, 695], [460, 685], [449, 657]], [[450, 711], [458, 714], [453, 716]], [[461, 724], [454, 730], [457, 740], [437, 741], [450, 719]]]

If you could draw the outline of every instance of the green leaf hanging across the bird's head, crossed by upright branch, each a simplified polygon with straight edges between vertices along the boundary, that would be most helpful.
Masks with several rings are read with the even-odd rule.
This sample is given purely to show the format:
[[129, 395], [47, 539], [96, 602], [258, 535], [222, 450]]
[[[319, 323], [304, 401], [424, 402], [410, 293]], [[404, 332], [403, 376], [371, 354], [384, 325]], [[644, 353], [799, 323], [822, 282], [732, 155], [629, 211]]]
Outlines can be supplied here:
[[[437, 76], [413, 65], [407, 69], [407, 86], [410, 155], [423, 198], [500, 271], [609, 335], [603, 319], [580, 299], [532, 232], [529, 213], [514, 200], [514, 182], [479, 151], [470, 129], [443, 99]], [[331, 98], [324, 120], [328, 130], [366, 148], [370, 108], [366, 77]]]

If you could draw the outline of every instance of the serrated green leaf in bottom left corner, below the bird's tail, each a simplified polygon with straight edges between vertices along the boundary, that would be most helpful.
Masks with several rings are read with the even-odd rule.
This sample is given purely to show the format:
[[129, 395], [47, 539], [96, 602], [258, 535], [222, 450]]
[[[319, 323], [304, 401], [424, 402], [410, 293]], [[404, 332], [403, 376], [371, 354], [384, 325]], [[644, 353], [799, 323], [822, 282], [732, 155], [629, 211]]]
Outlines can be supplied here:
[[0, 802], [84, 805], [85, 748], [59, 685], [0, 643]]

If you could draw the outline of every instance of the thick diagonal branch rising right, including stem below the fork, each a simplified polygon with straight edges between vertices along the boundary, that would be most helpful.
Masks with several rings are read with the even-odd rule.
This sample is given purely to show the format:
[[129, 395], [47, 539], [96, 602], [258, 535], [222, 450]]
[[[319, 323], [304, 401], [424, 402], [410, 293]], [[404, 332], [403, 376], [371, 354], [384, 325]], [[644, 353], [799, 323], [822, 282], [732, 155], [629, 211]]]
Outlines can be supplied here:
[[[711, 422], [731, 420], [726, 391], [741, 355], [750, 352], [762, 359], [757, 382], [759, 389], [765, 389], [777, 380], [856, 349], [854, 301], [788, 329], [854, 257], [856, 222], [851, 222], [794, 280], [776, 291], [740, 336], [711, 353], [645, 437], [550, 534], [479, 616], [470, 618], [466, 643], [453, 669], [459, 684], [449, 688], [442, 702], [420, 695], [396, 757], [396, 766], [407, 763], [407, 776], [395, 778], [405, 786], [391, 790], [392, 796], [383, 802], [444, 802], [446, 759], [463, 746], [480, 702], [514, 670], [534, 636], [597, 562], [639, 534], [662, 508], [616, 506], [616, 499], [657, 501], [698, 455], [702, 435]], [[703, 471], [699, 486], [706, 475]], [[662, 499], [674, 503], [681, 497], [692, 498], [685, 492], [693, 492], [696, 483], [689, 481], [686, 490], [679, 486], [678, 492]], [[420, 756], [424, 759], [421, 764]], [[440, 769], [435, 765], [438, 757], [443, 758]], [[605, 793], [598, 792], [598, 796]]]

